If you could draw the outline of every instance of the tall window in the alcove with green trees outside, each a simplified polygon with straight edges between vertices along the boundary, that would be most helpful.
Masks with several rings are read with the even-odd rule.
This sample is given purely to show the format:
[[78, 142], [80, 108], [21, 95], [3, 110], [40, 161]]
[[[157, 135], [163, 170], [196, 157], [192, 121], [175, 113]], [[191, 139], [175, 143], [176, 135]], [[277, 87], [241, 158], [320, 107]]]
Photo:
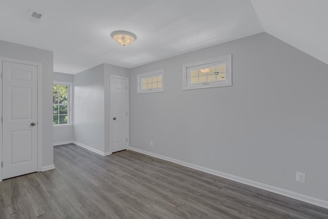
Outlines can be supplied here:
[[71, 84], [54, 82], [53, 84], [53, 125], [70, 124]]

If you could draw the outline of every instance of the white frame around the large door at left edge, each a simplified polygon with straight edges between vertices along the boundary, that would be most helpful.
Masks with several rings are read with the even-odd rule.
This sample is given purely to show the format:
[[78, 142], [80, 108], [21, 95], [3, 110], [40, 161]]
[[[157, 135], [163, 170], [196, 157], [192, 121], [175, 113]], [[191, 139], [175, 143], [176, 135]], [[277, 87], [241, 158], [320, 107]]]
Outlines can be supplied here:
[[[23, 61], [19, 59], [0, 57], [0, 72], [3, 72], [2, 62], [11, 62], [25, 65], [37, 66], [37, 171], [42, 171], [42, 64]], [[0, 115], [2, 115], [2, 80], [0, 83]], [[3, 129], [0, 126], [0, 163], [3, 161], [3, 145], [2, 145]], [[0, 167], [0, 182], [3, 179], [2, 167]]]

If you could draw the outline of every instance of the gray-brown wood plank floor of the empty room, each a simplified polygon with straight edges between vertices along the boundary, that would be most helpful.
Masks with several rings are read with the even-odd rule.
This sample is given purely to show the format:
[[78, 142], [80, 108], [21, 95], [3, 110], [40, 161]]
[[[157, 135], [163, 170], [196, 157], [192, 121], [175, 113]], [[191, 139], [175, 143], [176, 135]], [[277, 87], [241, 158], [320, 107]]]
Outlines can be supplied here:
[[133, 151], [54, 147], [56, 169], [0, 183], [0, 218], [328, 218], [328, 209]]

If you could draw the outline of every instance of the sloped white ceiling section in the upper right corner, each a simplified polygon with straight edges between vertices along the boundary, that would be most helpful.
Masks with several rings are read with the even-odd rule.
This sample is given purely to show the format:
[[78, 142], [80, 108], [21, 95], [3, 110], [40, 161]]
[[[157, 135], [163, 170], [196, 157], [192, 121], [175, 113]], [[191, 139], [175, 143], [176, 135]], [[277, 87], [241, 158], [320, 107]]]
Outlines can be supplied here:
[[265, 32], [328, 64], [327, 0], [252, 0]]

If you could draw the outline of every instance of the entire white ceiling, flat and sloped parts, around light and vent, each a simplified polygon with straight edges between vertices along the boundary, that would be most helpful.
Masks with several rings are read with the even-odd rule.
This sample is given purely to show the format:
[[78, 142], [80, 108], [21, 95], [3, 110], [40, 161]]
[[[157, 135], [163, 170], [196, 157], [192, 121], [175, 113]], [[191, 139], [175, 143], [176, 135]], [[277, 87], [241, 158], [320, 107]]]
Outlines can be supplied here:
[[[132, 68], [263, 31], [328, 63], [325, 0], [2, 0], [0, 39], [54, 52], [54, 70]], [[44, 14], [32, 22], [31, 12]], [[137, 35], [123, 47], [115, 30]], [[1, 48], [0, 48], [1, 49]]]

